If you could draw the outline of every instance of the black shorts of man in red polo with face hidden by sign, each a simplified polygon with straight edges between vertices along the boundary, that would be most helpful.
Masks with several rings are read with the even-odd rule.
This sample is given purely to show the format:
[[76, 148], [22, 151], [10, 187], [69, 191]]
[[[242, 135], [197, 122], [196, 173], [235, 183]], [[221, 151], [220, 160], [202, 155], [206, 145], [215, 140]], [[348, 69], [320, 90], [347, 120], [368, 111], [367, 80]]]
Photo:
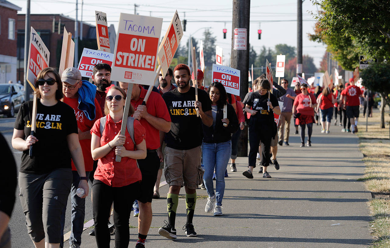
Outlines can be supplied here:
[[147, 150], [146, 158], [137, 159], [137, 162], [142, 174], [140, 193], [138, 194], [137, 200], [142, 203], [151, 203], [158, 168], [160, 167], [160, 158], [156, 150]]

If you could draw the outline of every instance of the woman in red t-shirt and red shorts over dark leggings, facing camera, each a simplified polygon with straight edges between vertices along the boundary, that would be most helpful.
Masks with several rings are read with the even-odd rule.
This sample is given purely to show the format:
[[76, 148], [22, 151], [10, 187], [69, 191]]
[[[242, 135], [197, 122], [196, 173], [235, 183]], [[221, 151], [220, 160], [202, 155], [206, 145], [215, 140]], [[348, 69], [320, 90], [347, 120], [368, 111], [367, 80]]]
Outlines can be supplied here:
[[307, 126], [308, 140], [306, 145], [312, 146], [312, 132], [314, 122], [314, 108], [317, 106], [316, 97], [307, 92], [307, 85], [301, 84], [301, 94], [296, 96], [293, 105], [295, 124], [301, 127], [301, 147], [305, 146], [305, 129]]

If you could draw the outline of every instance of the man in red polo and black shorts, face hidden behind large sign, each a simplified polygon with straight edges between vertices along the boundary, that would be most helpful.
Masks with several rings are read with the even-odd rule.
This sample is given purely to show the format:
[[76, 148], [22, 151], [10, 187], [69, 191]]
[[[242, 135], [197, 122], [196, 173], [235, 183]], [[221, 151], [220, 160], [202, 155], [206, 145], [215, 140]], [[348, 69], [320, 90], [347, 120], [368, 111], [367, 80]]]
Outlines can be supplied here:
[[[120, 82], [121, 88], [127, 88], [128, 83]], [[137, 159], [138, 166], [142, 173], [142, 182], [140, 184], [140, 194], [137, 198], [140, 208], [138, 216], [138, 241], [141, 243], [137, 247], [144, 247], [146, 236], [152, 223], [152, 196], [153, 188], [156, 183], [158, 169], [160, 168], [160, 158], [157, 155], [157, 149], [160, 148], [160, 131], [169, 132], [171, 119], [168, 113], [167, 105], [160, 94], [151, 92], [145, 105], [142, 105], [147, 90], [138, 84], [133, 85], [131, 93], [131, 105], [135, 109], [133, 117], [140, 120], [146, 129], [146, 148], [147, 155], [145, 159]]]

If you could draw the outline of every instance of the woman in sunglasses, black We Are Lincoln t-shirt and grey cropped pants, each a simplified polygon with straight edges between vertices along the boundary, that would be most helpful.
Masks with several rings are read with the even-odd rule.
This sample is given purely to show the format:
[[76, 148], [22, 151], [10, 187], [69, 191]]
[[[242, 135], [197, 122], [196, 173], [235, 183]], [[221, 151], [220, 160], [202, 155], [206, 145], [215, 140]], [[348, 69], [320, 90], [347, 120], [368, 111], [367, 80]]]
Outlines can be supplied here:
[[[72, 184], [71, 159], [80, 176], [78, 187], [88, 195], [83, 154], [74, 110], [60, 101], [60, 75], [53, 68], [38, 73], [35, 135], [30, 135], [32, 101], [24, 103], [15, 120], [12, 147], [23, 152], [19, 172], [20, 201], [27, 231], [37, 248], [59, 247], [60, 216]], [[33, 147], [33, 156], [29, 148]]]

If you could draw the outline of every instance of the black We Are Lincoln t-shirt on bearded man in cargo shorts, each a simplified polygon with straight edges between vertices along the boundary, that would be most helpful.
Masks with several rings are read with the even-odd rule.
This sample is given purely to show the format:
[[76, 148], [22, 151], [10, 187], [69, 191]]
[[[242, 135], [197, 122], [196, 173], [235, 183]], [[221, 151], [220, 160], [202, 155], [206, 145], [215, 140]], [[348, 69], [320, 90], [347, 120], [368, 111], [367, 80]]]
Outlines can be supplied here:
[[[190, 87], [186, 93], [176, 88], [163, 94], [171, 117], [171, 129], [165, 134], [167, 147], [178, 150], [189, 150], [202, 144], [202, 119], [195, 110], [195, 88]], [[198, 89], [198, 100], [202, 103], [203, 112], [211, 110], [211, 101], [206, 91]]]

